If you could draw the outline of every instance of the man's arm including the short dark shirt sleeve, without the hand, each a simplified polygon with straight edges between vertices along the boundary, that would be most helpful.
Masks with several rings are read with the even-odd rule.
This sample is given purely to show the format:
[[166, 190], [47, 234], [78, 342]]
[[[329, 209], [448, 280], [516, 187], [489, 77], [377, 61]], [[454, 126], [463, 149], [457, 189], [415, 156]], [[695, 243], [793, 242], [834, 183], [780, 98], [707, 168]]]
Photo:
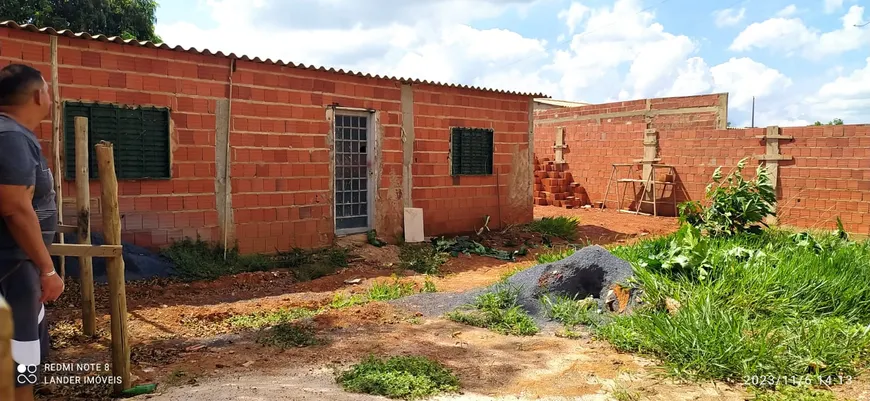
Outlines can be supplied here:
[[39, 218], [33, 210], [33, 190], [39, 160], [20, 132], [0, 132], [0, 216], [15, 242], [45, 274], [54, 262], [42, 239]]

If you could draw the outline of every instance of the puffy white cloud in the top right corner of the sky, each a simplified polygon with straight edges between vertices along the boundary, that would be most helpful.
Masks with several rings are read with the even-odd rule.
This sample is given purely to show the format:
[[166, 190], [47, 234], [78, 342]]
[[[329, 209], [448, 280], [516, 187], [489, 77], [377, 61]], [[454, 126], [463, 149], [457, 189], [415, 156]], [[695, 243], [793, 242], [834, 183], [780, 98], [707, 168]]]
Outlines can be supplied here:
[[729, 47], [733, 51], [771, 50], [819, 60], [870, 45], [870, 29], [857, 27], [864, 7], [853, 5], [840, 18], [842, 25], [830, 32], [807, 27], [800, 18], [774, 17], [746, 27]]

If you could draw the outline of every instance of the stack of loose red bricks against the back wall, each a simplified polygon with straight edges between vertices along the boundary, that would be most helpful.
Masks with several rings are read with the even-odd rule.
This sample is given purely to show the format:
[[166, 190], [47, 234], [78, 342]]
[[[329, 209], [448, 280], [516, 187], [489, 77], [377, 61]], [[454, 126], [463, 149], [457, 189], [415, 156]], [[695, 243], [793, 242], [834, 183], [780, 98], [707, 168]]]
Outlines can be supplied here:
[[564, 163], [535, 158], [535, 205], [568, 209], [588, 204], [586, 189], [574, 182]]

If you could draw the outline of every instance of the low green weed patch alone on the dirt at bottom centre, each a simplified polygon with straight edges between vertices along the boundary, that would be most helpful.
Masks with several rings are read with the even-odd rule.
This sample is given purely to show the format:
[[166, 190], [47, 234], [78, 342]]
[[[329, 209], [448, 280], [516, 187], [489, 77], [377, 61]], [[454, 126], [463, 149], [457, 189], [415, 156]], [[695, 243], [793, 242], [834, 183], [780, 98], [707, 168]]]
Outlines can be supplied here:
[[345, 390], [417, 400], [443, 393], [459, 391], [459, 379], [436, 361], [420, 356], [399, 356], [381, 359], [369, 356], [350, 370], [339, 374], [336, 381]]

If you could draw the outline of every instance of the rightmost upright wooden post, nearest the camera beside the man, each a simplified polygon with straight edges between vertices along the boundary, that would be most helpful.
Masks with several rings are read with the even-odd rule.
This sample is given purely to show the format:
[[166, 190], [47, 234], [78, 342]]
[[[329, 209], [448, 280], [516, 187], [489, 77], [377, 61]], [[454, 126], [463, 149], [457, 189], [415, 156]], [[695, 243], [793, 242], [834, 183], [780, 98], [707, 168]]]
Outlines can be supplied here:
[[[118, 211], [118, 179], [115, 176], [114, 149], [109, 142], [96, 145], [100, 172], [100, 210], [106, 245], [121, 245], [121, 214]], [[106, 260], [109, 276], [109, 304], [112, 317], [112, 375], [120, 376], [115, 391], [130, 388], [130, 343], [127, 337], [127, 294], [124, 289], [124, 257]]]

